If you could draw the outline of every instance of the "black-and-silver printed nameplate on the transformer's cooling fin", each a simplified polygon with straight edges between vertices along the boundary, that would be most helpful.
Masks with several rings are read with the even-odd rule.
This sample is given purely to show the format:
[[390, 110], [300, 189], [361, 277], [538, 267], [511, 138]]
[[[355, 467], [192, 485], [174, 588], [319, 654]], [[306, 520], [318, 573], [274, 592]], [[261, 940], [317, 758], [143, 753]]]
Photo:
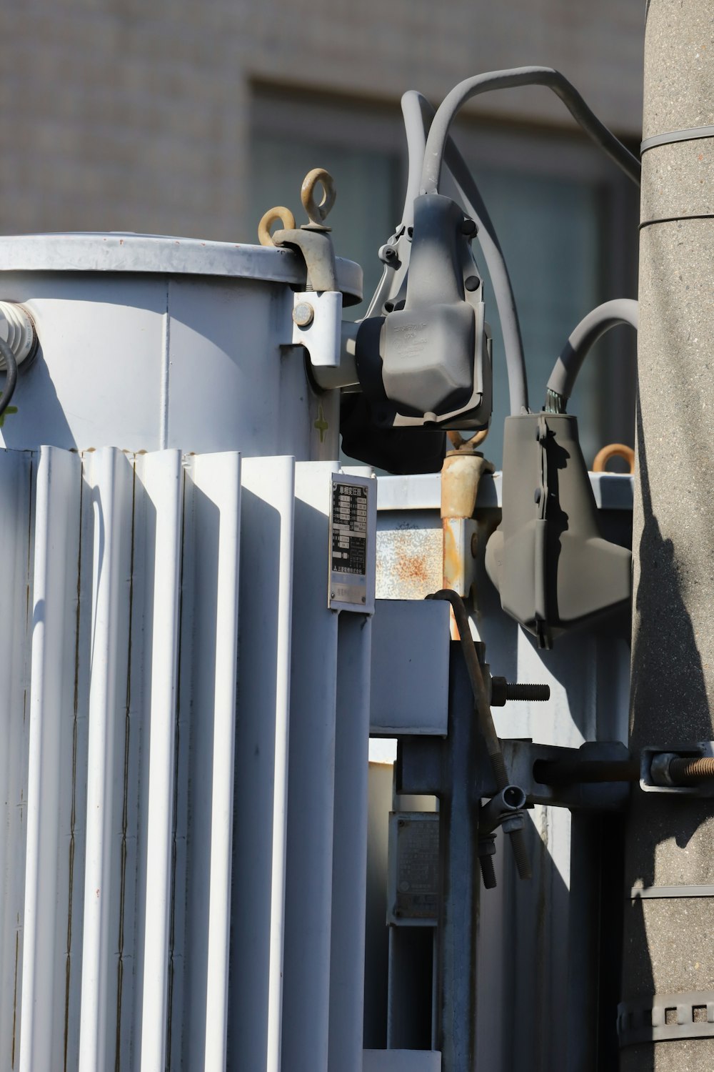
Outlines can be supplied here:
[[369, 478], [333, 473], [330, 508], [332, 610], [375, 610], [376, 487]]

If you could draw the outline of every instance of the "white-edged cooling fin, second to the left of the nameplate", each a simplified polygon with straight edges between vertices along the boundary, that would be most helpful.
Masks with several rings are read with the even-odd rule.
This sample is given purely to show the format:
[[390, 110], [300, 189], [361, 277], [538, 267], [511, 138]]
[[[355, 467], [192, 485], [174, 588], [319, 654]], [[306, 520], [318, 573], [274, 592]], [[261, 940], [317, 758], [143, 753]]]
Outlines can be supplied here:
[[246, 459], [242, 485], [228, 1068], [279, 1072], [294, 462]]

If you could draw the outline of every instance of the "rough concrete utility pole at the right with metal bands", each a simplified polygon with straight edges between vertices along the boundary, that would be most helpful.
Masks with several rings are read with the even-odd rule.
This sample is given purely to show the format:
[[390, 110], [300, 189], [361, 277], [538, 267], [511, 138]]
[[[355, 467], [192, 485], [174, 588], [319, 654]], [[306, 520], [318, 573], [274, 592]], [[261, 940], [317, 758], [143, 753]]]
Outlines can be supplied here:
[[[713, 124], [711, 0], [650, 0], [633, 534], [635, 750], [714, 739]], [[714, 801], [634, 792], [625, 882], [628, 1019], [621, 1041], [640, 1041], [623, 1046], [622, 1072], [711, 1072]], [[640, 887], [647, 895], [632, 897]], [[651, 1028], [653, 1021], [659, 1026]]]

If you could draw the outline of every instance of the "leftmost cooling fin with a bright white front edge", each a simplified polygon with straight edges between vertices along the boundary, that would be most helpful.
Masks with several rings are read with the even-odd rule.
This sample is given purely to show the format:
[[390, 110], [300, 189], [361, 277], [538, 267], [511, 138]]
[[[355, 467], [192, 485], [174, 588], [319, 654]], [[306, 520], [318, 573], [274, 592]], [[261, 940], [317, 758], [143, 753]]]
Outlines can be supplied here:
[[[21, 1072], [51, 1067], [63, 1029], [66, 793], [72, 772], [81, 465], [40, 452], [35, 492], [21, 991]], [[64, 879], [64, 881], [62, 881]], [[60, 890], [60, 885], [63, 889]], [[64, 955], [62, 955], [64, 953]], [[20, 1026], [20, 1025], [17, 1025]]]

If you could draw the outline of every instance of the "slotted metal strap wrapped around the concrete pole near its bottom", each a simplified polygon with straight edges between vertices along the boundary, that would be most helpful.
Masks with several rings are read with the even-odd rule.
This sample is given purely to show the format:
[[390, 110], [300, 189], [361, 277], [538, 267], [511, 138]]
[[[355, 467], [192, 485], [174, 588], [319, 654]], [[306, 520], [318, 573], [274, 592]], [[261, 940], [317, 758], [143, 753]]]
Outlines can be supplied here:
[[653, 994], [618, 1006], [620, 1046], [714, 1038], [714, 991]]

